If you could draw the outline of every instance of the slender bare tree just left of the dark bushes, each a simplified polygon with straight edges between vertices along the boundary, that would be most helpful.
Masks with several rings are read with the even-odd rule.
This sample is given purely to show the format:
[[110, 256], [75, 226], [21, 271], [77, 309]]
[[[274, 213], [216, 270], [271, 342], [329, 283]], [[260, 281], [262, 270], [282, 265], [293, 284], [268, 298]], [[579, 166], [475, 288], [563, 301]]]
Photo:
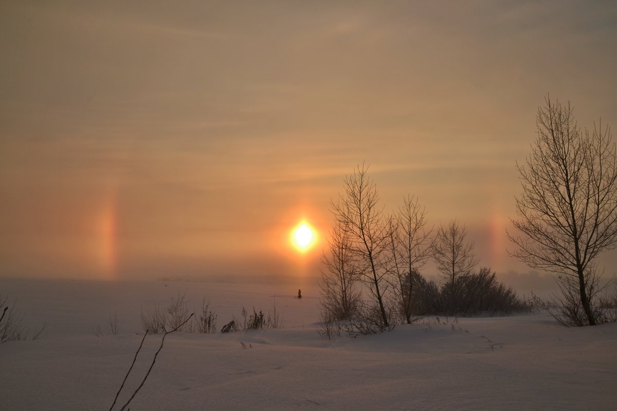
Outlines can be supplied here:
[[388, 219], [389, 272], [407, 324], [412, 324], [413, 289], [418, 273], [431, 257], [433, 227], [426, 230], [426, 209], [407, 195], [399, 213]]

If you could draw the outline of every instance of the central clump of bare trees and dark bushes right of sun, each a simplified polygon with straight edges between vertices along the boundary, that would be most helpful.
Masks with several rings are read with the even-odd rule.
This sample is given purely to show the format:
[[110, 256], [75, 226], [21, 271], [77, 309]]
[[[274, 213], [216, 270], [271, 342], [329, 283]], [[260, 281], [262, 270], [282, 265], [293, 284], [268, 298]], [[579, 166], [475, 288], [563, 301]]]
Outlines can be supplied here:
[[[343, 322], [349, 333], [371, 333], [412, 324], [428, 314], [509, 314], [525, 305], [478, 260], [467, 230], [456, 220], [435, 229], [426, 209], [408, 195], [385, 215], [368, 167], [344, 181], [331, 202], [334, 227], [321, 273], [321, 322]], [[433, 258], [441, 280], [421, 269]]]

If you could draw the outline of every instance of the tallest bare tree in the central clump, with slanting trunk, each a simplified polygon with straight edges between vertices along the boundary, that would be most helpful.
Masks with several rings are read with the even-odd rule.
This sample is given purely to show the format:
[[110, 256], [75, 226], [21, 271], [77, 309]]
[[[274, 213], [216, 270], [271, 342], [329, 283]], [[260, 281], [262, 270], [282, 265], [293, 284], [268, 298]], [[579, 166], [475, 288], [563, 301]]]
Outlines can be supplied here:
[[[331, 211], [336, 223], [349, 234], [349, 250], [354, 256], [358, 279], [368, 286], [378, 311], [381, 327], [389, 327], [384, 303], [387, 283], [386, 272], [387, 235], [383, 221], [383, 209], [379, 208], [379, 195], [368, 168], [362, 165], [344, 181], [344, 195], [339, 194], [336, 203], [331, 201]], [[369, 311], [372, 310], [369, 309]]]

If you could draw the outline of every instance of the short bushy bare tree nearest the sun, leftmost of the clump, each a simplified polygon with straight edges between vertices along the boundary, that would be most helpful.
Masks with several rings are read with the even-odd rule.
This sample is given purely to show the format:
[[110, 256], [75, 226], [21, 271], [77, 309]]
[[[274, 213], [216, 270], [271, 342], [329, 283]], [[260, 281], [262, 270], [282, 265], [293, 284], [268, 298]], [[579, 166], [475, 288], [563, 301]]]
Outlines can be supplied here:
[[354, 256], [350, 250], [349, 233], [341, 224], [335, 224], [328, 240], [329, 254], [321, 262], [321, 317], [325, 323], [349, 319], [357, 314], [362, 302], [360, 290], [355, 287]]

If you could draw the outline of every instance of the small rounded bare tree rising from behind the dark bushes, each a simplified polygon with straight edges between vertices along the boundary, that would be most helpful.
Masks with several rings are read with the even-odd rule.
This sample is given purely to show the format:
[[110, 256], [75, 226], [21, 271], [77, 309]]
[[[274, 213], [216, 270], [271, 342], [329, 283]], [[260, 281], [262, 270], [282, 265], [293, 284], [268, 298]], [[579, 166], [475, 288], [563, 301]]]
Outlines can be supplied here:
[[433, 246], [433, 258], [437, 270], [441, 272], [444, 283], [450, 284], [454, 292], [455, 281], [459, 275], [468, 274], [478, 265], [473, 253], [474, 242], [465, 242], [467, 227], [458, 226], [454, 219], [447, 227], [437, 229], [437, 238]]

